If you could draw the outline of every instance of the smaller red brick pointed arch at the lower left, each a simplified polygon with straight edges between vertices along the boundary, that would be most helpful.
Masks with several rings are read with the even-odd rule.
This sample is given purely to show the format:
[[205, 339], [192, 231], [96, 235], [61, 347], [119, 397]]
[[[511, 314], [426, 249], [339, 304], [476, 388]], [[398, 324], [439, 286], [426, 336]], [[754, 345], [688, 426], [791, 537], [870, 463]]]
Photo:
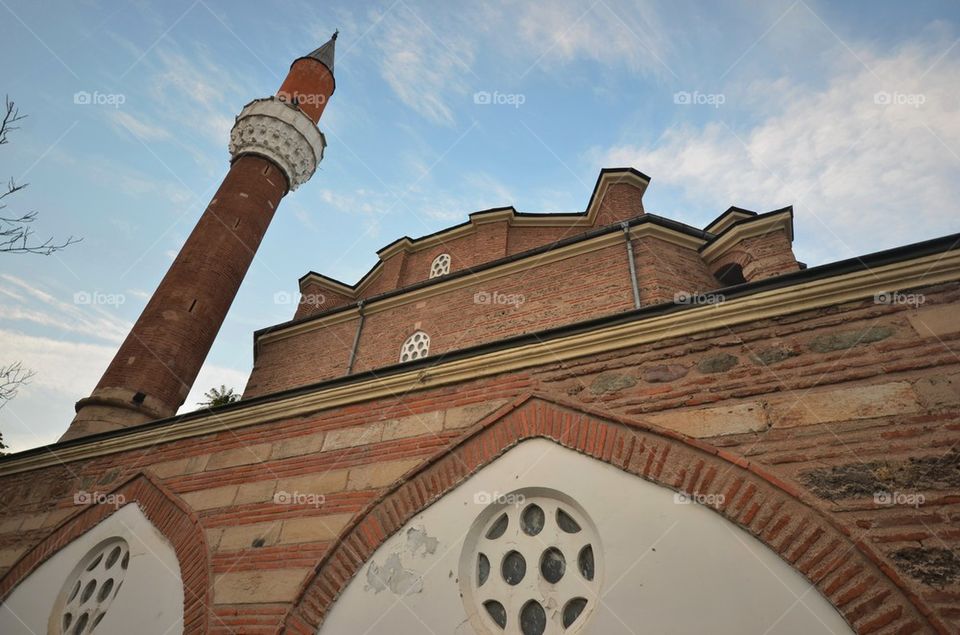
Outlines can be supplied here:
[[[207, 540], [196, 514], [163, 485], [140, 473], [110, 492], [125, 503], [137, 503], [144, 515], [173, 545], [183, 583], [183, 633], [208, 632], [211, 606], [210, 562]], [[88, 505], [66, 518], [39, 544], [25, 553], [0, 579], [0, 601], [5, 600], [40, 565], [76, 538], [111, 516], [112, 505]]]

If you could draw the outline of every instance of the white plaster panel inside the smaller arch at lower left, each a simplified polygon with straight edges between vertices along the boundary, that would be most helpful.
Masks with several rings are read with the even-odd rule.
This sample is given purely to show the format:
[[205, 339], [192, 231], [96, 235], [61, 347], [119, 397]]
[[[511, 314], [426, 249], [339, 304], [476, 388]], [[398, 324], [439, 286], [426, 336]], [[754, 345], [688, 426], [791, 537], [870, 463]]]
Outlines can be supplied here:
[[118, 536], [130, 546], [123, 585], [97, 635], [177, 635], [183, 632], [183, 583], [173, 545], [130, 503], [40, 565], [0, 605], [0, 633], [47, 633], [64, 582], [94, 546]]

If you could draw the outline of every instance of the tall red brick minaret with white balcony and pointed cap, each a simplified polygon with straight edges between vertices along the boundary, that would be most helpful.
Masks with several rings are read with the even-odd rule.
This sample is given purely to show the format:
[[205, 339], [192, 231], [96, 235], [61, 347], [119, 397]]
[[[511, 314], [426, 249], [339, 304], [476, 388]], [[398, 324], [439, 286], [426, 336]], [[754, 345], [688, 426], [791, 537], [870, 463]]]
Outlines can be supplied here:
[[244, 106], [220, 189], [61, 441], [169, 417], [183, 404], [280, 199], [323, 158], [316, 124], [336, 88], [336, 39], [294, 60], [274, 97]]

